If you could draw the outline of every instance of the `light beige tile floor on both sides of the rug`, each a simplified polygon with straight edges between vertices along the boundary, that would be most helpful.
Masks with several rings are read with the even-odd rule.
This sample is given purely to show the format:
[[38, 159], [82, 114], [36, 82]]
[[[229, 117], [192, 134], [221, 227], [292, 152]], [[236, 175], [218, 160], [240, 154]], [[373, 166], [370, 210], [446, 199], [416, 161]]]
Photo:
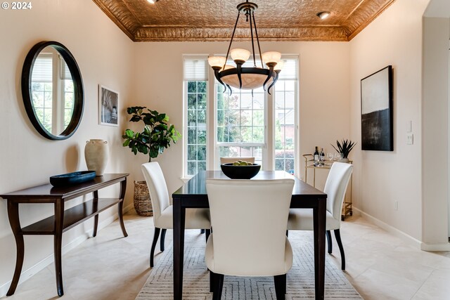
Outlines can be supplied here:
[[[127, 214], [125, 226], [126, 238], [115, 221], [63, 256], [63, 297], [56, 293], [51, 264], [2, 299], [134, 299], [150, 274], [153, 219]], [[414, 249], [359, 216], [342, 223], [341, 235], [345, 274], [364, 299], [450, 299], [450, 252]], [[171, 242], [168, 230], [166, 247]], [[334, 236], [332, 261], [340, 267]]]

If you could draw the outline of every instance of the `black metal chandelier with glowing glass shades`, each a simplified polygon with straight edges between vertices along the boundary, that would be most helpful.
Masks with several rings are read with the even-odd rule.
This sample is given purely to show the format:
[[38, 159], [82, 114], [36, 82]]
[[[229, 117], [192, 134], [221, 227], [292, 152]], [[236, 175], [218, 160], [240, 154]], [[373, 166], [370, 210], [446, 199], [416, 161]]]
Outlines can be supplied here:
[[[238, 18], [236, 19], [236, 24], [234, 25], [228, 51], [226, 51], [226, 57], [211, 56], [208, 58], [208, 63], [214, 70], [214, 75], [217, 81], [219, 81], [220, 84], [224, 85], [224, 90], [228, 88], [231, 93], [230, 86], [236, 89], [256, 89], [262, 86], [264, 91], [267, 91], [267, 93], [270, 94], [270, 90], [276, 83], [278, 74], [283, 67], [281, 53], [276, 51], [269, 51], [261, 54], [261, 47], [259, 46], [258, 32], [255, 22], [255, 10], [258, 8], [257, 4], [254, 4], [247, 0], [239, 4], [237, 8]], [[245, 14], [246, 22], [250, 22], [253, 67], [243, 67], [245, 61], [250, 58], [250, 51], [240, 48], [231, 49], [231, 44], [233, 43], [233, 37], [236, 32], [236, 26], [238, 25], [241, 12]], [[257, 67], [256, 65], [255, 42], [253, 40], [254, 30], [259, 57], [261, 58], [261, 67]], [[236, 67], [233, 65], [226, 65], [226, 61], [228, 60], [229, 55], [231, 55], [234, 63], [236, 63]], [[266, 65], [266, 67], [264, 67], [264, 64]]]

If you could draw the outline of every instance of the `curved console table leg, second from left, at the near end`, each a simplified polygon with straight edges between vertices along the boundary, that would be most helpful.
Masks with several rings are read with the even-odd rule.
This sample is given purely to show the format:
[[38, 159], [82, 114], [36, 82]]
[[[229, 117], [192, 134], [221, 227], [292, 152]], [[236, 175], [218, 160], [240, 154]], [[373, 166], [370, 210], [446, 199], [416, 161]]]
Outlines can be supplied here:
[[63, 223], [64, 223], [64, 202], [55, 202], [55, 234], [53, 236], [53, 247], [55, 255], [55, 276], [58, 296], [63, 296], [63, 268], [61, 263], [61, 250], [63, 247]]

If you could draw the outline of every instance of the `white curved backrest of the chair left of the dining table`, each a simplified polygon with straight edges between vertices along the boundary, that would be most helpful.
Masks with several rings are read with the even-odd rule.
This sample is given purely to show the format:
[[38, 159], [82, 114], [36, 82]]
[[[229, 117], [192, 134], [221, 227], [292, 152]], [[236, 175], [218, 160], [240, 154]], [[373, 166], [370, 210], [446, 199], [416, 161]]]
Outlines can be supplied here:
[[153, 207], [153, 221], [157, 222], [161, 212], [169, 207], [169, 192], [160, 164], [147, 162], [141, 165], [143, 177], [146, 179], [148, 193]]

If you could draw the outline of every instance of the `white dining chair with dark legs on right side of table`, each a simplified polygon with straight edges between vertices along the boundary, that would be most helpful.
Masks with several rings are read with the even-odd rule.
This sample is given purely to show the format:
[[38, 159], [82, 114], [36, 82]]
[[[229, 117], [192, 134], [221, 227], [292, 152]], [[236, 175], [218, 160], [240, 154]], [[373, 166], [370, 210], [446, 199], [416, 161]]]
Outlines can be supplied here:
[[[338, 242], [339, 246], [342, 270], [345, 270], [345, 254], [340, 238], [341, 211], [352, 170], [352, 164], [342, 162], [333, 163], [330, 168], [330, 173], [326, 178], [325, 188], [323, 189], [323, 192], [327, 194], [326, 237], [328, 253], [331, 254], [333, 250], [330, 230], [334, 230], [336, 242]], [[288, 230], [314, 230], [312, 210], [290, 209]]]

